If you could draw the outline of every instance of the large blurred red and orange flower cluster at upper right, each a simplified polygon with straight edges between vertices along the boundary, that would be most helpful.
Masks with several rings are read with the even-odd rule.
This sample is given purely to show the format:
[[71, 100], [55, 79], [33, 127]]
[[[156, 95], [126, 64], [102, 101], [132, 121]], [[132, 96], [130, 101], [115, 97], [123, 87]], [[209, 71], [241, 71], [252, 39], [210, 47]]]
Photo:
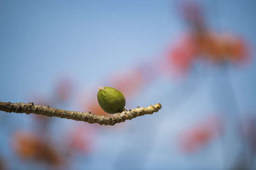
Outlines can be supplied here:
[[199, 4], [186, 2], [181, 11], [190, 30], [181, 36], [166, 56], [166, 60], [172, 65], [171, 68], [174, 68], [174, 73], [187, 73], [195, 59], [214, 64], [243, 63], [248, 60], [247, 42], [237, 35], [218, 34], [207, 28]]

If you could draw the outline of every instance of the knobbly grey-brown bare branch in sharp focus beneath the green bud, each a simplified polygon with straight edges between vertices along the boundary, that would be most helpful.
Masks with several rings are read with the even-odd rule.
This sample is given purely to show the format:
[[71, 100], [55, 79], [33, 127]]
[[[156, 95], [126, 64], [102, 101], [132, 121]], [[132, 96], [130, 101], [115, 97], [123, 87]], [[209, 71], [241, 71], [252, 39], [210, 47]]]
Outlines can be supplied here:
[[150, 105], [146, 108], [142, 107], [132, 110], [124, 110], [121, 113], [114, 114], [112, 116], [99, 116], [88, 112], [80, 111], [67, 111], [61, 109], [50, 108], [49, 106], [34, 105], [34, 103], [11, 103], [0, 102], [0, 110], [5, 112], [15, 113], [34, 113], [39, 115], [45, 115], [49, 117], [58, 117], [65, 119], [73, 119], [78, 121], [84, 121], [88, 123], [98, 123], [100, 125], [115, 125], [116, 123], [124, 122], [125, 120], [133, 119], [145, 114], [153, 114], [161, 109], [161, 104], [156, 103], [155, 106]]

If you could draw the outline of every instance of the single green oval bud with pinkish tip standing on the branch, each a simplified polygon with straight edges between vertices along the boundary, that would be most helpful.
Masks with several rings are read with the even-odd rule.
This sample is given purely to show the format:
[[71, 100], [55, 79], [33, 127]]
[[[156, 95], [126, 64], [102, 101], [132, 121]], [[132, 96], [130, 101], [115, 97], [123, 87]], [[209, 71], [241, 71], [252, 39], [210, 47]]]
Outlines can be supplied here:
[[119, 113], [125, 110], [124, 94], [113, 87], [99, 87], [98, 102], [107, 113]]

